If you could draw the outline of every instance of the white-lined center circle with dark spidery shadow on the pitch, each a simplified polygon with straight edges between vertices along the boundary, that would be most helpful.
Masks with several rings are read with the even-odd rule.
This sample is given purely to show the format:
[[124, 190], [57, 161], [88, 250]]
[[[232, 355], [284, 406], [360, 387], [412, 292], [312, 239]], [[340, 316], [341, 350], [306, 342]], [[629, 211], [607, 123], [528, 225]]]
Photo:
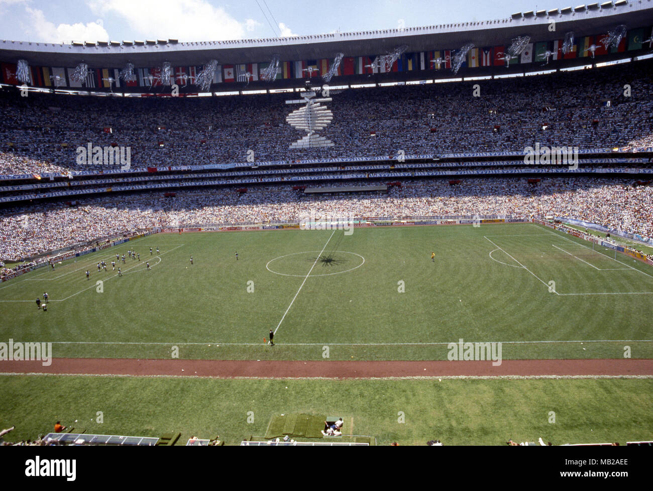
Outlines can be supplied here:
[[[355, 261], [359, 262], [360, 264], [352, 268], [351, 267], [352, 263], [350, 262], [351, 259], [355, 259]], [[276, 264], [272, 265], [272, 263], [276, 263]], [[334, 274], [342, 274], [342, 273], [347, 273], [349, 271], [357, 270], [363, 264], [365, 264], [365, 258], [355, 252], [329, 251], [325, 253], [324, 251], [303, 251], [303, 252], [295, 252], [292, 254], [285, 254], [283, 256], [270, 259], [270, 261], [268, 261], [268, 264], [265, 265], [265, 268], [270, 273], [279, 274], [281, 276], [298, 276], [303, 278], [306, 277], [306, 274], [309, 271], [311, 271], [311, 274], [309, 276], [331, 276]], [[311, 266], [313, 267], [313, 270], [311, 270]], [[332, 272], [315, 274], [315, 270], [317, 270], [317, 268], [320, 269], [328, 268]], [[281, 271], [297, 270], [298, 272], [303, 270], [304, 273], [302, 274], [281, 273], [279, 271], [275, 271], [275, 269], [280, 269]]]

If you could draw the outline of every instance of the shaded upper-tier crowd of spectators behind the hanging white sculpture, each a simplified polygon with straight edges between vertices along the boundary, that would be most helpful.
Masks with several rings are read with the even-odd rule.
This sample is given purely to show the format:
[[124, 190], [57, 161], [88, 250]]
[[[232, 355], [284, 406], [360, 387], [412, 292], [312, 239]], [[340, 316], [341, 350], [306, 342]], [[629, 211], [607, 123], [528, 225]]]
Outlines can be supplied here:
[[[334, 146], [291, 150], [291, 94], [227, 97], [0, 96], [0, 174], [84, 168], [76, 149], [131, 147], [131, 166], [470, 151], [653, 146], [653, 61], [447, 84], [347, 89], [327, 103]], [[473, 97], [479, 84], [480, 97]], [[630, 95], [624, 95], [629, 84]], [[374, 135], [372, 135], [374, 133]], [[13, 154], [9, 157], [7, 154]], [[35, 168], [22, 157], [31, 157]]]

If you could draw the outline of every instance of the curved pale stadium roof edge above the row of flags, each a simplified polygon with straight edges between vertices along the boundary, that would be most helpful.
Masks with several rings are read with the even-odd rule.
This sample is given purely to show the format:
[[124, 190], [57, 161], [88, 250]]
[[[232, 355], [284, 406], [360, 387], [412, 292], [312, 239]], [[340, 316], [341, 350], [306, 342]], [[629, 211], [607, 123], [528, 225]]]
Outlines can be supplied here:
[[[549, 30], [552, 22], [554, 31]], [[173, 66], [203, 65], [210, 59], [227, 64], [257, 63], [269, 61], [274, 54], [282, 61], [333, 58], [338, 52], [345, 56], [385, 54], [404, 44], [407, 52], [423, 52], [456, 49], [468, 42], [475, 46], [498, 46], [524, 35], [537, 41], [556, 40], [567, 31], [573, 30], [577, 36], [594, 35], [619, 24], [628, 29], [652, 25], [653, 0], [616, 0], [517, 12], [510, 18], [490, 21], [264, 39], [80, 40], [71, 44], [0, 40], [0, 61], [16, 63], [18, 59], [27, 59], [31, 65], [67, 67], [84, 61], [91, 68], [121, 67], [127, 62], [136, 67], [152, 67], [164, 61]]]

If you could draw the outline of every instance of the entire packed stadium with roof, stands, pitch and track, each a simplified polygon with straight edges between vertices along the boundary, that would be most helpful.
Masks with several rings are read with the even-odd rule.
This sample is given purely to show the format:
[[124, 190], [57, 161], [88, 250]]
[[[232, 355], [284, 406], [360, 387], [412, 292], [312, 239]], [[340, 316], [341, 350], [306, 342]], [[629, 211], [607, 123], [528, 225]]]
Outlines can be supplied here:
[[650, 445], [653, 2], [497, 15], [0, 40], [0, 443]]

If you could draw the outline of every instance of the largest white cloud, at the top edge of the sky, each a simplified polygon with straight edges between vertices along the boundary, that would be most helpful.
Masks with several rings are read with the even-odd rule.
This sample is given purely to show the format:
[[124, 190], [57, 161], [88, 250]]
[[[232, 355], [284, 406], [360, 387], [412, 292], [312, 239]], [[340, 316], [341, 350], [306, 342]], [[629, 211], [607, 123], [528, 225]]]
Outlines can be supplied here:
[[117, 14], [135, 35], [146, 39], [241, 39], [246, 26], [253, 25], [238, 22], [206, 0], [90, 0], [89, 7], [99, 14]]

